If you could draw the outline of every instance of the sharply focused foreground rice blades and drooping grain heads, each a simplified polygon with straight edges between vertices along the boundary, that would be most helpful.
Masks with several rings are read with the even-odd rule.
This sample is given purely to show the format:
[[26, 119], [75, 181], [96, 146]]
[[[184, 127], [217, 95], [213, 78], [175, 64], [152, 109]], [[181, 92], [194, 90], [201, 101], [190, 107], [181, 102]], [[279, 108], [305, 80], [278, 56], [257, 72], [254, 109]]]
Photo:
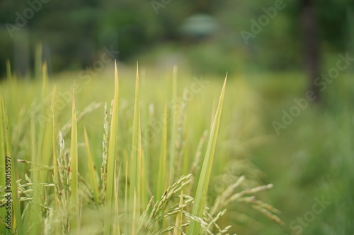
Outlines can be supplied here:
[[[177, 76], [175, 67], [172, 99], [177, 99]], [[131, 123], [131, 126], [125, 126], [126, 129], [120, 125], [125, 117], [118, 109], [120, 92], [116, 64], [114, 78], [111, 107], [108, 108], [107, 104], [104, 107], [101, 151], [93, 150], [91, 144], [93, 140], [101, 141], [102, 138], [89, 135], [90, 126], [81, 126], [81, 119], [100, 104], [93, 103], [82, 112], [76, 112], [79, 106], [73, 92], [71, 117], [62, 128], [57, 128], [59, 114], [54, 112], [57, 98], [54, 88], [50, 107], [39, 101], [33, 104], [33, 107], [39, 108], [33, 109], [29, 112], [30, 117], [22, 120], [22, 126], [30, 126], [29, 135], [21, 133], [30, 143], [30, 154], [24, 155], [21, 164], [18, 163], [11, 155], [11, 144], [17, 143], [10, 142], [11, 128], [1, 97], [0, 154], [6, 152], [6, 156], [11, 156], [13, 181], [18, 176], [28, 181], [21, 184], [21, 179], [18, 179], [11, 185], [13, 221], [16, 221], [11, 228], [13, 234], [23, 234], [25, 229], [27, 234], [86, 234], [87, 231], [92, 234], [227, 234], [232, 225], [222, 228], [218, 221], [227, 215], [226, 208], [232, 203], [248, 203], [281, 224], [275, 215], [278, 210], [254, 197], [259, 191], [271, 188], [271, 185], [236, 191], [244, 181], [241, 176], [220, 195], [207, 200], [213, 177], [213, 159], [218, 154], [215, 150], [226, 78], [219, 103], [212, 114], [211, 129], [205, 130], [197, 141], [188, 140], [187, 117], [193, 112], [188, 109], [186, 95], [180, 107], [164, 105], [164, 119], [159, 130], [161, 139], [156, 151], [153, 142], [143, 141], [142, 133], [149, 125], [142, 113], [138, 66], [134, 112], [127, 117], [130, 122], [126, 123]], [[11, 80], [9, 83], [16, 90]], [[43, 66], [42, 100], [48, 95], [48, 87], [46, 67]], [[45, 123], [36, 123], [40, 120], [38, 116], [47, 113], [52, 114], [50, 119]], [[82, 144], [79, 142], [81, 129]], [[122, 133], [129, 133], [129, 138], [123, 139], [122, 136], [127, 134]], [[67, 139], [70, 140], [68, 150], [65, 146]], [[199, 141], [192, 150], [195, 155], [189, 153], [190, 141]], [[130, 147], [126, 148], [127, 145]], [[85, 151], [81, 151], [81, 146], [85, 147]], [[96, 167], [97, 162], [101, 162], [101, 166]], [[4, 168], [2, 161], [0, 164]], [[16, 169], [22, 171], [16, 174]], [[3, 179], [0, 179], [0, 184], [4, 187]], [[4, 190], [0, 192], [0, 195], [4, 194]], [[0, 198], [0, 205], [4, 203], [5, 200]], [[4, 213], [1, 212], [0, 216], [4, 218]], [[7, 232], [4, 229], [0, 231]]]

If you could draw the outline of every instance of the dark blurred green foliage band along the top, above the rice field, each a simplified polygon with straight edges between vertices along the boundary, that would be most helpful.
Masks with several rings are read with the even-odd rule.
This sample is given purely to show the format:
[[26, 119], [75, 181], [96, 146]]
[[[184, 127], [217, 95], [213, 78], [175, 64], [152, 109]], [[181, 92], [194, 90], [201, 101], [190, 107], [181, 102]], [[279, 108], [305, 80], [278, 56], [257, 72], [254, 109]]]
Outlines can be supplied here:
[[[91, 66], [104, 47], [127, 64], [188, 64], [195, 73], [298, 71], [302, 52], [302, 1], [55, 1], [0, 2], [0, 61], [11, 59], [22, 75], [33, 67], [35, 45], [51, 72]], [[321, 64], [350, 49], [350, 0], [312, 0]], [[260, 32], [252, 19], [279, 4]], [[278, 5], [277, 5], [278, 6]], [[311, 21], [311, 20], [310, 20]], [[258, 30], [256, 30], [258, 31]], [[145, 59], [145, 60], [144, 60]], [[166, 62], [167, 61], [167, 62]], [[4, 75], [4, 63], [0, 64]]]

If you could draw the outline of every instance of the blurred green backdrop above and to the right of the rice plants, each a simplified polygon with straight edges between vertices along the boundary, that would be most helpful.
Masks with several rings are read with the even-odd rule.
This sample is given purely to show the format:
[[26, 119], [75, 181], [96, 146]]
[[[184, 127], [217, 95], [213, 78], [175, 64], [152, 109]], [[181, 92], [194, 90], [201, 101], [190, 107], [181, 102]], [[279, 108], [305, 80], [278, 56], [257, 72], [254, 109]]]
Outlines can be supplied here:
[[[277, 4], [281, 9], [271, 18], [266, 11]], [[235, 219], [235, 232], [353, 235], [353, 61], [336, 79], [317, 80], [326, 89], [314, 85], [337, 66], [338, 54], [354, 57], [353, 6], [350, 0], [2, 0], [0, 76], [9, 59], [18, 79], [39, 76], [42, 61], [57, 80], [97, 77], [107, 49], [122, 71], [138, 60], [152, 78], [176, 64], [183, 76], [205, 76], [219, 88], [229, 71], [221, 145], [235, 159], [250, 159], [263, 171], [260, 181], [275, 185], [265, 201], [285, 222], [280, 227], [254, 215], [253, 222]], [[268, 16], [264, 26], [261, 16]], [[254, 37], [245, 40], [246, 31]], [[312, 88], [318, 102], [309, 102], [277, 135], [274, 121], [281, 123], [282, 111], [289, 113], [294, 99]], [[330, 204], [312, 218], [315, 198]], [[299, 218], [305, 224], [296, 229]]]

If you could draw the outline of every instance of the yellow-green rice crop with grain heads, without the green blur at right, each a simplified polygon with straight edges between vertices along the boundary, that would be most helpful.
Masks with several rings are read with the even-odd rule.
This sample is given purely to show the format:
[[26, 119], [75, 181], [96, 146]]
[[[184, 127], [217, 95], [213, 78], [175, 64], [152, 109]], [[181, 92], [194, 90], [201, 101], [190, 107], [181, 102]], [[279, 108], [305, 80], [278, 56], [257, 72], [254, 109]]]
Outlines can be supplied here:
[[227, 234], [233, 222], [222, 218], [235, 203], [282, 224], [256, 197], [273, 187], [256, 168], [223, 172], [227, 78], [185, 79], [181, 89], [177, 67], [166, 79], [140, 78], [138, 66], [134, 79], [118, 73], [115, 64], [110, 78], [60, 86], [45, 65], [34, 81], [8, 73], [1, 234]]

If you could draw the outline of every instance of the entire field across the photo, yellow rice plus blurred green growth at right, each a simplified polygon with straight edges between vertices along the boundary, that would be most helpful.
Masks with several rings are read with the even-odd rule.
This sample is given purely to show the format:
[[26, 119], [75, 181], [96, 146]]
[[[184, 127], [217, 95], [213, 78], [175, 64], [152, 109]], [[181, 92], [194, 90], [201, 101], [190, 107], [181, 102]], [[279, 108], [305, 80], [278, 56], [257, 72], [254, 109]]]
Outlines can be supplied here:
[[346, 77], [276, 135], [302, 75], [7, 67], [0, 234], [353, 234]]

